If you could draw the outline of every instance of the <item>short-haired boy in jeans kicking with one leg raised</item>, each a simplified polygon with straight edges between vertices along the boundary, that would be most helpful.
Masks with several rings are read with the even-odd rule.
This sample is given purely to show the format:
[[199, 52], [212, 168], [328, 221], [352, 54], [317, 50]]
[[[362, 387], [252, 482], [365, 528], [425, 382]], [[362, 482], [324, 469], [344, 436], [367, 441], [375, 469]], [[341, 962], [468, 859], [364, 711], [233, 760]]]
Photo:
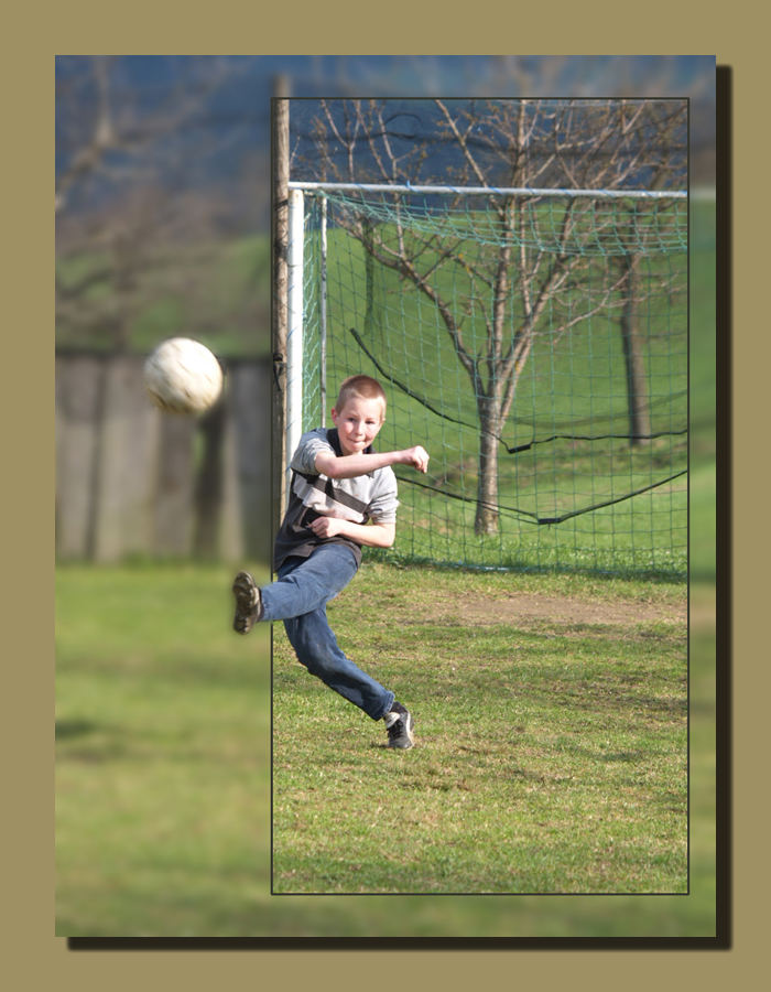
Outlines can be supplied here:
[[386, 419], [386, 393], [369, 376], [346, 379], [332, 410], [334, 429], [300, 439], [290, 467], [286, 514], [275, 539], [275, 582], [258, 589], [249, 572], [234, 581], [234, 628], [283, 621], [298, 660], [335, 692], [383, 720], [389, 747], [412, 747], [414, 720], [394, 693], [361, 671], [337, 645], [326, 604], [350, 582], [361, 547], [390, 548], [397, 530], [397, 477], [391, 465], [426, 472], [428, 454], [416, 445], [374, 452]]

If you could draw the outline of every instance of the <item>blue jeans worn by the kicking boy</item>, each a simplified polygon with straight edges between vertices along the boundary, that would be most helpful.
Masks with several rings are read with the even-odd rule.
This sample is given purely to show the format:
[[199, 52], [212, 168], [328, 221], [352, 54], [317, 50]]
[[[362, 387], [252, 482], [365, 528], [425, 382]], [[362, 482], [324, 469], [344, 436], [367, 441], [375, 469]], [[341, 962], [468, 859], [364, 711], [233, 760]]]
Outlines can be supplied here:
[[347, 658], [327, 622], [326, 604], [356, 574], [357, 561], [345, 544], [319, 544], [310, 558], [287, 558], [279, 578], [260, 590], [261, 619], [283, 621], [298, 660], [326, 686], [380, 720], [391, 709], [393, 692]]

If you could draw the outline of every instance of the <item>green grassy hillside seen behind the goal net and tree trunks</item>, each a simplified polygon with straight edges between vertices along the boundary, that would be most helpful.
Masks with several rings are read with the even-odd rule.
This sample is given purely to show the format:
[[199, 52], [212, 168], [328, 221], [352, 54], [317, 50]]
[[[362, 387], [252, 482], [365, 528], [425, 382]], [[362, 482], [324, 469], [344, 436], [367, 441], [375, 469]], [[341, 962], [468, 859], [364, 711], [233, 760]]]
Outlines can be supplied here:
[[[469, 377], [436, 309], [421, 293], [404, 292], [404, 282], [378, 267], [368, 276], [361, 247], [339, 228], [329, 230], [327, 407], [346, 375], [372, 374], [386, 382], [390, 401], [379, 446], [420, 442], [432, 455], [427, 479], [399, 473], [403, 505], [398, 553], [485, 567], [685, 574], [688, 402], [708, 418], [713, 399], [713, 209], [694, 206], [698, 239], [691, 260], [689, 335], [685, 256], [643, 260], [643, 292], [655, 287], [665, 270], [671, 269], [673, 278], [677, 270], [677, 292], [654, 292], [641, 302], [638, 314], [651, 431], [658, 436], [634, 449], [623, 436], [629, 421], [618, 309], [580, 322], [567, 335], [551, 334], [558, 315], [546, 315], [499, 445], [501, 528], [492, 537], [474, 533], [479, 417]], [[308, 267], [313, 259], [307, 251]], [[561, 305], [578, 309], [587, 293], [598, 292], [602, 266], [593, 261], [573, 301], [567, 296]], [[306, 279], [311, 296], [314, 271]], [[453, 301], [454, 312], [463, 312], [470, 280], [453, 269], [436, 284]], [[307, 324], [306, 427], [322, 416], [316, 306], [314, 301]], [[471, 354], [484, 349], [479, 309], [469, 310], [464, 335]], [[691, 398], [689, 375], [697, 391]]]

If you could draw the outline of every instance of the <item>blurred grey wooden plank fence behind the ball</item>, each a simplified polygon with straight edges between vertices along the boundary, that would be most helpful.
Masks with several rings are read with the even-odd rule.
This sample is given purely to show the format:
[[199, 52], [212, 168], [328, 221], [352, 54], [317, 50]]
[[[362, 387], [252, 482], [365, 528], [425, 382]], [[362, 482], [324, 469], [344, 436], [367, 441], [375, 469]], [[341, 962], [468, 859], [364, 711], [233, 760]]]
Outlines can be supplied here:
[[139, 356], [56, 355], [56, 554], [267, 561], [269, 360], [224, 363], [200, 418], [148, 399]]

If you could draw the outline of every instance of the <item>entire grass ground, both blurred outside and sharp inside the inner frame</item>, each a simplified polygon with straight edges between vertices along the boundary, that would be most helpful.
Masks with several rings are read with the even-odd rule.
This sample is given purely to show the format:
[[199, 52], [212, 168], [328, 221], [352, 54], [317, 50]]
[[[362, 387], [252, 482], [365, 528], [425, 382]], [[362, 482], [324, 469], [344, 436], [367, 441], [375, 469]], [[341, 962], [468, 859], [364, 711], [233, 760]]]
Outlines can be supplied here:
[[229, 581], [216, 565], [58, 569], [58, 935], [712, 931], [708, 657], [692, 895], [502, 895], [685, 891], [682, 585], [365, 564], [330, 615], [415, 710], [408, 753], [276, 629], [273, 884], [426, 893], [359, 904], [269, 894], [269, 638], [232, 634]]

